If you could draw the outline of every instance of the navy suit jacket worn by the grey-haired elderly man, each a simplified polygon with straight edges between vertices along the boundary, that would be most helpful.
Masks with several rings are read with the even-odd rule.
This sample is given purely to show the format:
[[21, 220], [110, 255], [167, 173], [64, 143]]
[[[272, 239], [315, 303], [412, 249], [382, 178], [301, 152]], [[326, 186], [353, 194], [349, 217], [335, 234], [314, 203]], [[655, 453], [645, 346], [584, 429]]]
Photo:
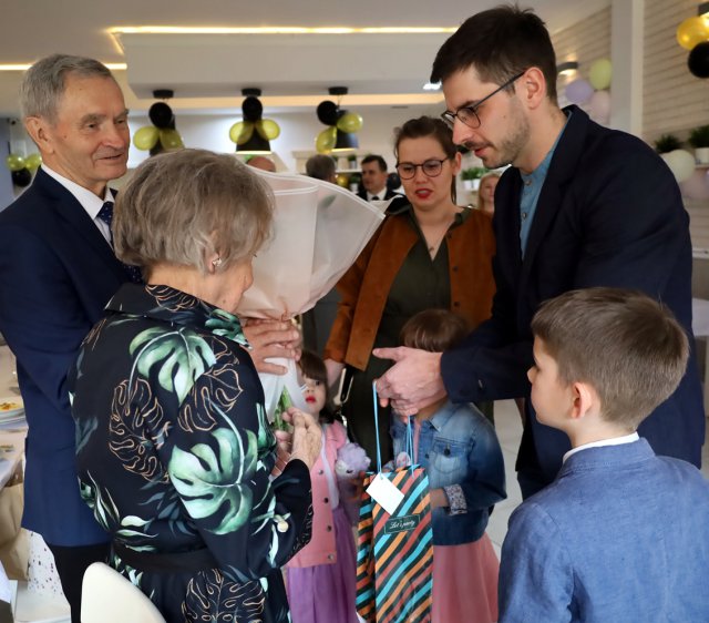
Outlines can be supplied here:
[[52, 545], [109, 540], [80, 497], [66, 372], [126, 280], [85, 210], [41, 168], [0, 213], [0, 333], [29, 423], [22, 524]]

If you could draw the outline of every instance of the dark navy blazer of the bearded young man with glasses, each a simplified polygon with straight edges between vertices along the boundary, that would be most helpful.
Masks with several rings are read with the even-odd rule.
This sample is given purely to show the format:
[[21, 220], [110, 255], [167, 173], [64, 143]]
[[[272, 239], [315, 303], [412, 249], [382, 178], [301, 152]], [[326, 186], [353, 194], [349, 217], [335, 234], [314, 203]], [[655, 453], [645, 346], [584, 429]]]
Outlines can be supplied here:
[[[594, 123], [577, 106], [566, 112], [572, 116], [552, 157], [524, 258], [520, 171], [510, 167], [497, 184], [492, 317], [441, 361], [454, 402], [528, 397], [532, 316], [542, 302], [571, 289], [644, 290], [669, 306], [693, 347], [689, 216], [675, 177], [639, 139]], [[638, 432], [658, 455], [700, 464], [705, 413], [693, 351], [677, 391]], [[527, 400], [517, 469], [541, 469], [551, 482], [568, 449], [566, 436], [537, 422]]]

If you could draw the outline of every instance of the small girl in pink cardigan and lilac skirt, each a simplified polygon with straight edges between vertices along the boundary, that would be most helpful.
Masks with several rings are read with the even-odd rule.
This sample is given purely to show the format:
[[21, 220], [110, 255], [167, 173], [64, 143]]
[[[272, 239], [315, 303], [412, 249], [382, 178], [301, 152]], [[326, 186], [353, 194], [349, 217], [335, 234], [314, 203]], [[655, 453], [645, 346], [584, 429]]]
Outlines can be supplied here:
[[287, 565], [292, 623], [358, 623], [354, 611], [357, 554], [352, 527], [340, 504], [335, 461], [348, 443], [345, 427], [325, 409], [327, 370], [315, 354], [300, 357], [309, 411], [320, 418], [322, 450], [310, 470], [312, 539]]

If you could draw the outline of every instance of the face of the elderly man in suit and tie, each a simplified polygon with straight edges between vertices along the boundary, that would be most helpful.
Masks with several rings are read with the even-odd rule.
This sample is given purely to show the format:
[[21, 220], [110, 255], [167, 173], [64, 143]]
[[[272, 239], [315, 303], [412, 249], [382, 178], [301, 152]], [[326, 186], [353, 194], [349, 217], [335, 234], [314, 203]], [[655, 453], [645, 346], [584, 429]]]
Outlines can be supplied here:
[[129, 159], [129, 112], [111, 78], [69, 74], [54, 124], [33, 118], [44, 163], [64, 177], [102, 196], [106, 182], [121, 177]]

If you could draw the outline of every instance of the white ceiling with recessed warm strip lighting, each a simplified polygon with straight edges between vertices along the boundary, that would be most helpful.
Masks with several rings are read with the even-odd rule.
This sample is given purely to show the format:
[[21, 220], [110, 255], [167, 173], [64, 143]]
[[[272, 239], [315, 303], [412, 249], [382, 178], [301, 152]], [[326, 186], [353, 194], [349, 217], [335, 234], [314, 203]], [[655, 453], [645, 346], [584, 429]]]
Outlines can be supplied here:
[[[346, 103], [425, 104], [431, 62], [449, 34], [130, 34], [116, 27], [442, 27], [456, 28], [500, 0], [10, 0], [0, 18], [0, 64], [30, 63], [53, 52], [126, 63], [115, 72], [133, 111], [153, 103], [153, 89], [172, 88], [183, 113], [240, 108], [240, 89], [260, 86], [270, 111], [308, 109], [328, 85], [349, 86]], [[527, 2], [552, 32], [610, 0]], [[0, 115], [17, 116], [21, 72], [0, 71]]]

